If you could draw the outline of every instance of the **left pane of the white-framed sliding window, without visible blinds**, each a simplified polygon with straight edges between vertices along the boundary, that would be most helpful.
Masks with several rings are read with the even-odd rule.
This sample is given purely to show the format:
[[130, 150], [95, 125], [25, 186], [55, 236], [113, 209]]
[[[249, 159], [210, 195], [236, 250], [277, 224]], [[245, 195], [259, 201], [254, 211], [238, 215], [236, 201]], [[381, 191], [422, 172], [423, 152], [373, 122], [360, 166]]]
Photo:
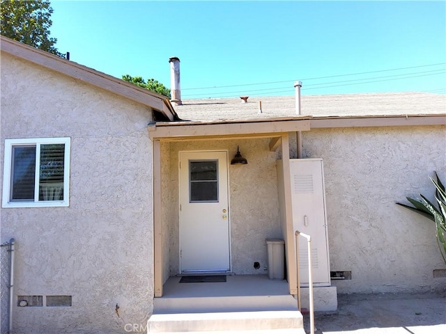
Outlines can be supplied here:
[[34, 200], [36, 146], [13, 146], [10, 200]]

